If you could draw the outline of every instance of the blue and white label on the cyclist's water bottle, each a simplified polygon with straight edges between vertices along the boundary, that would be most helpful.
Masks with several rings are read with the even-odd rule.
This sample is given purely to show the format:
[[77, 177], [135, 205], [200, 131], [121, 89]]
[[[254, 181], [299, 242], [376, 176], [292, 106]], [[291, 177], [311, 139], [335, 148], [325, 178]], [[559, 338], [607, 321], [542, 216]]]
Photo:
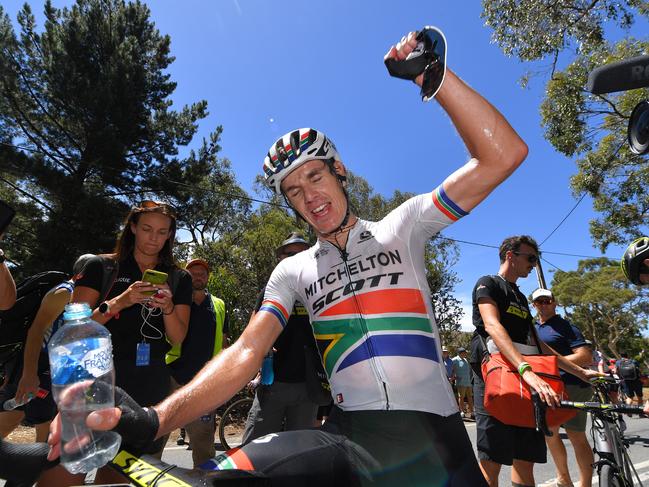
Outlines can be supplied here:
[[88, 338], [50, 350], [52, 383], [66, 385], [100, 377], [113, 367], [108, 338]]

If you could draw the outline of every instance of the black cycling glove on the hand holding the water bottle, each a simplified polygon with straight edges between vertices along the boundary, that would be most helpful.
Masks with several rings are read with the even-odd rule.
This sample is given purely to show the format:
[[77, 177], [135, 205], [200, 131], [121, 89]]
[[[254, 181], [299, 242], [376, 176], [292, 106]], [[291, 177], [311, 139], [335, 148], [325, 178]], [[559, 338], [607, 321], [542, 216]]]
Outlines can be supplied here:
[[160, 427], [155, 409], [143, 408], [119, 387], [115, 387], [115, 407], [122, 410], [122, 417], [114, 428], [122, 437], [122, 449], [139, 456], [163, 448], [165, 438], [155, 439]]

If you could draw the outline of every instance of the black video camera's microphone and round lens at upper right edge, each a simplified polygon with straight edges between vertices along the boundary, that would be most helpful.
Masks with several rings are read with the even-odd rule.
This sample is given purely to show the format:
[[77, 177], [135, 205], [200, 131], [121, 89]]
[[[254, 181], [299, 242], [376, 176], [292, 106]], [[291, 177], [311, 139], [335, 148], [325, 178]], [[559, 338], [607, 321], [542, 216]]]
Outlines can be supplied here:
[[[649, 55], [637, 56], [593, 70], [586, 89], [594, 95], [649, 87]], [[631, 112], [627, 139], [631, 152], [649, 153], [649, 100], [638, 103]]]

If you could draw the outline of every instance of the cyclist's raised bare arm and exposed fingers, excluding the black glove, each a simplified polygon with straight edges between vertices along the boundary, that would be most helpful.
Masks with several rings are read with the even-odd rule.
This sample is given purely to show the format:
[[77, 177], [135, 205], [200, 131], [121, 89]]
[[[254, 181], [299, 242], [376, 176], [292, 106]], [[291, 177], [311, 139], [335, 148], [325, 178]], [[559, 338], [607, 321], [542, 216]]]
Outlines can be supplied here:
[[[417, 46], [411, 32], [386, 57], [405, 59]], [[422, 76], [415, 82], [421, 86]], [[503, 182], [527, 156], [527, 145], [503, 115], [447, 69], [435, 99], [451, 118], [471, 159], [444, 181], [444, 191], [464, 211], [470, 211]]]

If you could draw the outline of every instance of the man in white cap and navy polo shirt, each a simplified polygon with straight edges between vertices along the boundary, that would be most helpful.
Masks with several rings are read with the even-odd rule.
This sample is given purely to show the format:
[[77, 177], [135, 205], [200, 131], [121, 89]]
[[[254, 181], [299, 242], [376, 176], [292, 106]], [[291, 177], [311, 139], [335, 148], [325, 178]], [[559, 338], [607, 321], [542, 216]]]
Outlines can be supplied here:
[[[575, 365], [590, 366], [593, 357], [591, 348], [581, 331], [557, 314], [557, 302], [552, 292], [548, 289], [537, 289], [532, 293], [532, 304], [537, 311], [536, 331], [539, 338]], [[563, 370], [560, 373], [571, 401], [588, 401], [591, 398], [592, 391], [588, 384]], [[562, 425], [575, 450], [582, 487], [590, 487], [592, 484], [594, 462], [593, 451], [586, 438], [586, 420], [586, 412], [579, 411], [574, 418]], [[557, 486], [572, 486], [568, 454], [559, 436], [559, 426], [550, 428], [550, 431], [553, 434], [546, 436], [545, 442], [557, 467]]]

